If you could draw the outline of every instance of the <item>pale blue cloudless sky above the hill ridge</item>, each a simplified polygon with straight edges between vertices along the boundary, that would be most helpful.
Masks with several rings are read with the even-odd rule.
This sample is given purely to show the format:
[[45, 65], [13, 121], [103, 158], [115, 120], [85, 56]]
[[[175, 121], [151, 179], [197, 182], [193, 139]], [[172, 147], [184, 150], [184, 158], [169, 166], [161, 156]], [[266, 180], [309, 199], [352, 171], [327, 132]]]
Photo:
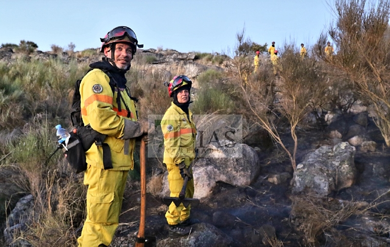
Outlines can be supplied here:
[[0, 44], [24, 39], [50, 51], [73, 42], [80, 51], [125, 25], [144, 49], [220, 53], [245, 26], [246, 37], [278, 49], [313, 45], [331, 16], [326, 0], [0, 0]]

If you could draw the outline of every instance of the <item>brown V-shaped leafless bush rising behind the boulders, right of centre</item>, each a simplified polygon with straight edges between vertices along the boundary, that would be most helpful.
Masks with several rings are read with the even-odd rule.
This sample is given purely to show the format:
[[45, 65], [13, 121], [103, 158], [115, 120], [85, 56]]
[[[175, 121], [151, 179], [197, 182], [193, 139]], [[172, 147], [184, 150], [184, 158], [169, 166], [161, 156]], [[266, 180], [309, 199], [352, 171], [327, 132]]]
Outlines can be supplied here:
[[[325, 97], [325, 82], [320, 63], [313, 58], [301, 59], [294, 45], [285, 45], [279, 61], [280, 77], [273, 75], [271, 64], [264, 64], [258, 73], [248, 76], [241, 83], [242, 98], [245, 100], [256, 123], [265, 129], [287, 153], [296, 169], [299, 123]], [[241, 80], [242, 81], [242, 80]], [[283, 142], [277, 120], [286, 118], [290, 124], [294, 147], [290, 150]]]

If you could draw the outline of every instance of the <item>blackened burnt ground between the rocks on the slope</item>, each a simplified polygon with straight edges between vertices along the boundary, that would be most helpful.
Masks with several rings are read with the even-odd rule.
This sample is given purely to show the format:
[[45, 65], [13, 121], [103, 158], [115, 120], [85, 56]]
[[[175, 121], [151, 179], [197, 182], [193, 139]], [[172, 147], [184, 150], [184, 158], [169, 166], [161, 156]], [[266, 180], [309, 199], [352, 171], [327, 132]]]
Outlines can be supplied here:
[[[321, 145], [331, 144], [324, 133], [324, 131], [317, 129], [298, 133], [297, 164], [308, 152]], [[351, 188], [329, 195], [330, 197], [372, 202], [379, 196], [381, 190], [389, 188], [389, 148], [385, 148], [383, 138], [372, 122], [367, 127], [367, 133], [372, 140], [377, 142], [377, 150], [372, 153], [362, 153], [357, 148], [355, 165], [358, 177], [356, 183]], [[286, 133], [283, 138], [285, 138], [287, 146], [292, 147], [289, 134]], [[231, 236], [236, 241], [234, 246], [265, 246], [259, 237], [259, 228], [263, 225], [271, 225], [275, 228], [276, 236], [278, 240], [283, 242], [283, 246], [304, 246], [303, 233], [297, 231], [289, 219], [292, 205], [290, 179], [278, 185], [268, 182], [267, 179], [272, 174], [286, 171], [292, 175], [290, 161], [282, 149], [277, 147], [262, 150], [258, 152], [258, 155], [262, 169], [253, 184], [242, 188], [218, 183], [210, 197], [202, 200], [197, 207], [192, 208], [192, 217], [203, 223], [212, 224]], [[380, 179], [377, 177], [378, 171], [374, 171], [375, 165], [377, 169], [382, 169], [379, 171], [380, 174], [383, 174]], [[131, 191], [125, 195], [119, 222], [131, 226], [131, 229], [134, 230], [138, 228], [140, 194], [139, 190]], [[386, 198], [383, 199], [386, 200]], [[168, 228], [164, 217], [167, 209], [168, 207], [162, 203], [161, 198], [147, 194], [146, 235], [156, 236], [157, 239], [168, 237]], [[380, 213], [390, 213], [390, 205], [385, 202], [373, 210]], [[117, 236], [128, 234], [129, 228], [124, 229], [122, 231], [119, 227]], [[194, 230], [196, 230], [196, 225]], [[318, 246], [328, 245], [321, 243], [321, 238], [319, 238]]]

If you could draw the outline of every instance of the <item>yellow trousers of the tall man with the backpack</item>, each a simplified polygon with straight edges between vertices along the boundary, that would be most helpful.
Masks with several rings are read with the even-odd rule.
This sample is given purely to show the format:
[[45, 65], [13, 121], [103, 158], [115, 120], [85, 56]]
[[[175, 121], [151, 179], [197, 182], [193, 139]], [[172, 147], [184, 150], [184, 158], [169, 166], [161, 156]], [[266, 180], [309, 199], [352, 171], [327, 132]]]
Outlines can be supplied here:
[[88, 186], [87, 218], [77, 240], [79, 247], [110, 245], [118, 226], [128, 173], [88, 166], [84, 174], [84, 185]]

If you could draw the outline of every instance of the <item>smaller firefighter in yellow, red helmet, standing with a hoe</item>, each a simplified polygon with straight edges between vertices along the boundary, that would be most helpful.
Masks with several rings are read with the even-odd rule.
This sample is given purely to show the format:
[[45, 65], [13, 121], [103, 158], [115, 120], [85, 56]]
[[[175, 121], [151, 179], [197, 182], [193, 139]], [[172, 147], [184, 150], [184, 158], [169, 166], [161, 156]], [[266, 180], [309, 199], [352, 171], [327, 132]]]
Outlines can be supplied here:
[[[189, 105], [192, 81], [187, 76], [175, 76], [168, 86], [168, 94], [173, 102], [161, 119], [161, 129], [164, 134], [163, 162], [168, 170], [168, 183], [171, 197], [179, 197], [184, 184], [184, 178], [189, 176], [186, 198], [194, 197], [194, 179], [190, 164], [195, 159], [196, 127]], [[188, 235], [188, 226], [199, 222], [190, 218], [191, 205], [187, 208], [172, 202], [165, 213], [169, 225], [169, 236], [179, 237]]]

